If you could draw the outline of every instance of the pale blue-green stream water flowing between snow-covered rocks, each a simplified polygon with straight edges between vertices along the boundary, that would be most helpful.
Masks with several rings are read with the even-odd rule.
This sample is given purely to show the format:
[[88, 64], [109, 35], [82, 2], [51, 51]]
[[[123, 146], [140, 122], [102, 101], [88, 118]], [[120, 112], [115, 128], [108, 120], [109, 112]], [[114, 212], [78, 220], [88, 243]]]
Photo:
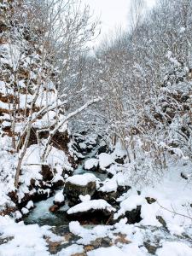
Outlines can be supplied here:
[[[76, 170], [74, 170], [74, 174], [93, 173], [100, 180], [104, 180], [106, 178], [106, 174], [100, 172], [89, 172], [84, 170], [84, 161], [91, 157], [94, 157], [94, 155], [96, 155], [97, 150], [98, 148], [96, 147], [90, 152], [90, 154], [87, 154], [85, 156], [82, 163], [78, 166]], [[69, 219], [67, 218], [67, 205], [61, 207], [58, 212], [49, 212], [49, 207], [53, 205], [54, 197], [55, 195], [52, 195], [47, 200], [35, 203], [35, 208], [32, 210], [32, 212], [29, 213], [28, 216], [24, 218], [25, 224], [39, 224], [41, 226], [67, 225], [69, 223]]]

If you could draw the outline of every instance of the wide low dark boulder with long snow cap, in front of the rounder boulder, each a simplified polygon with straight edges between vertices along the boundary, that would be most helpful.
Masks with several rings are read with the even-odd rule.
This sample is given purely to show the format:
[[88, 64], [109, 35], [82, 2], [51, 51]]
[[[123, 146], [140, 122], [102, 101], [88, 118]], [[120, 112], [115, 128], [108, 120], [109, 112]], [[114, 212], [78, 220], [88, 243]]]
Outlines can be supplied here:
[[69, 218], [76, 220], [88, 220], [91, 218], [96, 218], [96, 221], [98, 221], [98, 219], [105, 220], [115, 211], [115, 208], [108, 204], [107, 201], [99, 199], [83, 201], [78, 205], [71, 207], [67, 211], [67, 214], [69, 215]]

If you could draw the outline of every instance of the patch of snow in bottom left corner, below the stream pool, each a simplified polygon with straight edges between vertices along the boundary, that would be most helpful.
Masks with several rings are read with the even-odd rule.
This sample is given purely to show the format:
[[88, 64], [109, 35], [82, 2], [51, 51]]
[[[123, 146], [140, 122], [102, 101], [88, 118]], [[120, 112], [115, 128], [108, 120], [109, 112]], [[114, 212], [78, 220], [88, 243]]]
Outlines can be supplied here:
[[13, 237], [12, 240], [0, 246], [2, 256], [33, 256], [49, 255], [44, 236], [56, 238], [48, 227], [39, 227], [38, 224], [25, 225], [23, 222], [16, 224], [13, 219], [0, 216], [0, 234], [3, 237]]

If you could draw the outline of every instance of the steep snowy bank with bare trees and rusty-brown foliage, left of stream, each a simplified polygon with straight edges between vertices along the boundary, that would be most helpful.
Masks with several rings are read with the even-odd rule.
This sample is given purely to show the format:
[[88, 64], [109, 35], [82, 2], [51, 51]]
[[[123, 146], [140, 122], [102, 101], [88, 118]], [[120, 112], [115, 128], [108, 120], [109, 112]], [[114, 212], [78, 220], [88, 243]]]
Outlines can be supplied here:
[[6, 184], [5, 201], [15, 188], [19, 201], [49, 190], [73, 170], [67, 121], [99, 100], [89, 98], [67, 113], [67, 95], [58, 93], [67, 76], [61, 61], [67, 63], [94, 33], [95, 23], [86, 26], [88, 8], [83, 13], [76, 8], [73, 1], [62, 0], [0, 3], [0, 181]]

